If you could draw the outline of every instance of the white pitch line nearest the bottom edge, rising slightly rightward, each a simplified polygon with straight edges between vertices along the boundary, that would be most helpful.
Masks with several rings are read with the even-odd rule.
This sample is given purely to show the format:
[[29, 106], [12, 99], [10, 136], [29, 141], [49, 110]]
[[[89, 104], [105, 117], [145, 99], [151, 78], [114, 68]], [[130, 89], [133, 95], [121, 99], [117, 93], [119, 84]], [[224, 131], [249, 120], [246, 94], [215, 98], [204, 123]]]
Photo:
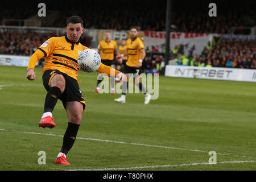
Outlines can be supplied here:
[[[236, 163], [255, 163], [255, 162], [256, 160], [242, 160], [242, 161], [222, 161], [218, 163], [219, 164], [231, 164], [231, 163], [236, 164]], [[214, 164], [209, 164], [209, 163], [191, 163], [191, 164], [166, 164], [166, 165], [159, 165], [159, 166], [137, 166], [137, 167], [120, 167], [120, 168], [69, 169], [67, 171], [110, 171], [110, 170], [130, 170], [130, 169], [143, 169], [143, 168], [183, 167], [183, 166], [199, 166], [199, 165], [215, 166]]]

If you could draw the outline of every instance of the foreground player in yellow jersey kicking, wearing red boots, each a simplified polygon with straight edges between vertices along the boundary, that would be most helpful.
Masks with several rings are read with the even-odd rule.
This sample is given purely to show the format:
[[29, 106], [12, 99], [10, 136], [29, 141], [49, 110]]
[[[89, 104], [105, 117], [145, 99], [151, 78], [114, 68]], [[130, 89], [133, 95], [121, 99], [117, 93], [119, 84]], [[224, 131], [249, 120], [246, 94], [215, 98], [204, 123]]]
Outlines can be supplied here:
[[[39, 122], [39, 127], [55, 127], [52, 111], [60, 99], [68, 115], [68, 127], [63, 137], [63, 145], [57, 155], [55, 163], [70, 165], [67, 162], [68, 151], [75, 142], [77, 131], [82, 119], [82, 111], [85, 109], [84, 97], [79, 88], [77, 76], [80, 70], [77, 64], [80, 51], [88, 49], [79, 43], [84, 31], [80, 16], [71, 16], [67, 19], [67, 35], [53, 37], [44, 42], [30, 57], [27, 69], [28, 80], [35, 80], [34, 68], [36, 63], [44, 56], [46, 61], [43, 68], [43, 85], [47, 90], [44, 102], [44, 113]], [[110, 70], [114, 69], [104, 64], [100, 65], [98, 72], [110, 76]], [[114, 70], [115, 76], [123, 79], [121, 72]]]

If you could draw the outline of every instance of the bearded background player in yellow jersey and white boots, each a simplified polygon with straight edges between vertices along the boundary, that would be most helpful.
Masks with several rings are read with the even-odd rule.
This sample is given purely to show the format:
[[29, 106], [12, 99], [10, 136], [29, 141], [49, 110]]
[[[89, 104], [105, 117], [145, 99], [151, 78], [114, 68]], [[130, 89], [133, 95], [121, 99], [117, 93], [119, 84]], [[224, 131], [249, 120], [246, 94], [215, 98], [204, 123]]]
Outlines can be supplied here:
[[138, 38], [138, 29], [136, 27], [130, 28], [131, 38], [126, 41], [127, 51], [121, 56], [117, 56], [117, 59], [122, 62], [121, 57], [128, 56], [123, 73], [126, 75], [126, 80], [123, 81], [122, 95], [119, 98], [115, 98], [115, 102], [125, 103], [125, 94], [127, 92], [127, 81], [129, 81], [130, 74], [133, 74], [134, 83], [139, 87], [142, 93], [145, 94], [144, 104], [150, 102], [151, 95], [146, 91], [141, 81], [139, 80], [139, 74], [141, 73], [142, 60], [146, 56], [144, 44], [141, 39]]

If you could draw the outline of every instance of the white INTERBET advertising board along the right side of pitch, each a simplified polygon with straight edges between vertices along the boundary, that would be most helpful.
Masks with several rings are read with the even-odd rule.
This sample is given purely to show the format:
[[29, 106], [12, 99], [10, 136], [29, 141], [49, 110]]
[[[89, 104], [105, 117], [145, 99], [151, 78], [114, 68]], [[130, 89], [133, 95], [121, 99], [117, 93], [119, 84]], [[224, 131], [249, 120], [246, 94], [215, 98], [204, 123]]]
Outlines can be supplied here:
[[165, 76], [256, 82], [256, 69], [208, 68], [167, 65]]

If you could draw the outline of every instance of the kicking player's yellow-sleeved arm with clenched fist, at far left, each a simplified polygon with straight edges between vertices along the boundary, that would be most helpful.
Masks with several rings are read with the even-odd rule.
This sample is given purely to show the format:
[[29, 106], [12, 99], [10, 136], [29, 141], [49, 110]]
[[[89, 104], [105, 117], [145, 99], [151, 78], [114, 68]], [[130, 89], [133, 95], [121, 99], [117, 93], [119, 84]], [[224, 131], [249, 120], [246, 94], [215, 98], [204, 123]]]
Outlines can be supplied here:
[[27, 78], [28, 80], [35, 80], [35, 65], [38, 63], [40, 59], [44, 57], [44, 53], [40, 51], [39, 49], [36, 50], [30, 57], [30, 60], [28, 61], [28, 67], [27, 67]]

